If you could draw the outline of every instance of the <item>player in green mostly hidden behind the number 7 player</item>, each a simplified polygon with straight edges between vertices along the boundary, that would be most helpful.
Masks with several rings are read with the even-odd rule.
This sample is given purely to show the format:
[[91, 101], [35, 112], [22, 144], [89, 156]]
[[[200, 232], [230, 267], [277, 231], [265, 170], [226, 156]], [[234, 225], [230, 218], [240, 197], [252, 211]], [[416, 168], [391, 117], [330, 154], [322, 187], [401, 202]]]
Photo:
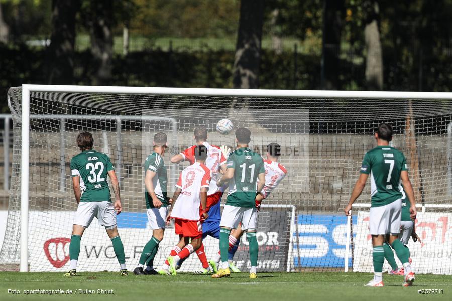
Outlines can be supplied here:
[[[402, 242], [402, 244], [405, 246], [406, 251], [408, 252], [408, 261], [411, 264], [411, 257], [410, 257], [410, 249], [408, 248], [407, 244], [410, 239], [410, 237], [413, 239], [414, 242], [419, 241], [419, 243], [422, 243], [419, 236], [414, 231], [414, 221], [411, 219], [410, 215], [410, 206], [409, 201], [406, 199], [406, 194], [403, 191], [403, 186], [400, 184], [399, 186], [400, 192], [402, 193], [402, 214], [401, 214], [401, 220], [400, 220], [400, 235], [399, 240]], [[398, 268], [397, 262], [394, 258], [394, 252], [392, 251], [391, 247], [389, 246], [388, 242], [385, 241], [383, 243], [383, 249], [385, 252], [385, 259], [388, 261], [389, 265], [391, 265], [391, 270], [388, 272], [390, 275], [404, 275], [404, 268]]]

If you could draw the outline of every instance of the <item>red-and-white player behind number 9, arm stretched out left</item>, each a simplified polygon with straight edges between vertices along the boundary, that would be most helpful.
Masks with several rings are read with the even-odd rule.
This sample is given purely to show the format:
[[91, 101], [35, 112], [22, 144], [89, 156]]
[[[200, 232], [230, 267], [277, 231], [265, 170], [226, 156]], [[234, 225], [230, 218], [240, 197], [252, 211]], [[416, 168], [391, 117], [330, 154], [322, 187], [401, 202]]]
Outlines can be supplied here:
[[[214, 206], [221, 200], [221, 196], [224, 191], [224, 187], [216, 186], [217, 174], [221, 171], [223, 174], [226, 172], [226, 158], [221, 152], [218, 146], [210, 145], [207, 142], [207, 129], [203, 126], [198, 126], [194, 129], [194, 138], [197, 145], [204, 145], [207, 148], [207, 158], [205, 160], [205, 166], [207, 166], [212, 172], [212, 179], [210, 180], [209, 190], [207, 192], [207, 204], [206, 212], [209, 212], [210, 207]], [[171, 158], [171, 163], [179, 163], [182, 161], [188, 161], [193, 164], [194, 158], [194, 148], [196, 145], [188, 147], [183, 152], [173, 156]], [[209, 234], [209, 233], [208, 233]], [[205, 256], [204, 245], [196, 251], [199, 260], [202, 263], [202, 269], [195, 271], [196, 273], [208, 273], [210, 272], [209, 263], [207, 262], [207, 257]], [[183, 261], [179, 262], [179, 265]]]

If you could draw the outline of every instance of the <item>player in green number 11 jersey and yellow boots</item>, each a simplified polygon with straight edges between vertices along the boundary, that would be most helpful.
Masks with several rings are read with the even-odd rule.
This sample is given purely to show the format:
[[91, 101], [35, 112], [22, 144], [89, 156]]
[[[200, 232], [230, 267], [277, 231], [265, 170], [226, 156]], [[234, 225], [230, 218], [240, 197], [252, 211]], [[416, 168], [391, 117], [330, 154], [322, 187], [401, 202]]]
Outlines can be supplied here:
[[[232, 152], [226, 163], [226, 173], [216, 182], [218, 187], [229, 182], [229, 193], [221, 214], [220, 252], [221, 269], [213, 278], [229, 277], [228, 263], [229, 235], [242, 222], [250, 245], [250, 278], [256, 278], [258, 243], [256, 239], [256, 195], [265, 185], [265, 168], [262, 157], [248, 148], [251, 132], [248, 128], [236, 130], [237, 149]], [[259, 182], [256, 183], [259, 179]]]

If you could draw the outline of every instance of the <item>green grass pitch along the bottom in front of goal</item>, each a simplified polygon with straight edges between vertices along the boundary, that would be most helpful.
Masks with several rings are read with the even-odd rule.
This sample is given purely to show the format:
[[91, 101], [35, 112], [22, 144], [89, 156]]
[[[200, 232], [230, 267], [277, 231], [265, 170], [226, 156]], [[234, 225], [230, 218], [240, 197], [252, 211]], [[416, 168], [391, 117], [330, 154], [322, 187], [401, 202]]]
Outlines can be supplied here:
[[[385, 274], [385, 287], [364, 287], [370, 273], [301, 272], [247, 273], [212, 279], [210, 275], [179, 273], [177, 276], [120, 276], [119, 272], [80, 272], [66, 278], [62, 273], [0, 272], [0, 300], [450, 300], [452, 276], [416, 275], [412, 287], [402, 287], [402, 276]], [[64, 294], [25, 294], [26, 290], [63, 290]], [[97, 290], [104, 290], [98, 292]], [[436, 293], [418, 293], [439, 289]], [[8, 290], [21, 291], [20, 294]], [[72, 290], [72, 294], [66, 294]], [[81, 290], [81, 291], [80, 291]], [[87, 293], [86, 290], [92, 290]], [[112, 290], [113, 293], [108, 293]], [[442, 293], [440, 293], [442, 292]]]

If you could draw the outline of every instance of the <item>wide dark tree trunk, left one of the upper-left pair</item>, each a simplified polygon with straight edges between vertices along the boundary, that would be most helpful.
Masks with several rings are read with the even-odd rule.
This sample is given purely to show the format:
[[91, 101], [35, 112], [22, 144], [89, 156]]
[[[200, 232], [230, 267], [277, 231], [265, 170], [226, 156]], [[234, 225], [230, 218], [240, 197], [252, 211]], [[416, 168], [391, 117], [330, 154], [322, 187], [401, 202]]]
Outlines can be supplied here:
[[80, 1], [52, 1], [52, 34], [47, 53], [50, 84], [72, 84], [74, 80], [75, 16]]

